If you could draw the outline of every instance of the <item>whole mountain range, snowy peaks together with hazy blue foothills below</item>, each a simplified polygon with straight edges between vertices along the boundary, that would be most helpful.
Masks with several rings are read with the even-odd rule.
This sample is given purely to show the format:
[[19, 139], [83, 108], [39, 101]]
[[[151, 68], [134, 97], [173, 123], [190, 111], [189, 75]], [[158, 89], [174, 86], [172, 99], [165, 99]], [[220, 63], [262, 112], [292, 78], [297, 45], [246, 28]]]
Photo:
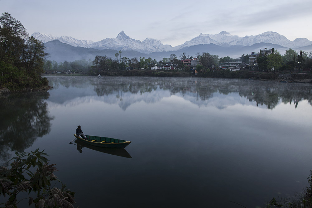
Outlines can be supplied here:
[[290, 41], [277, 32], [264, 32], [245, 37], [233, 36], [225, 31], [214, 35], [200, 34], [175, 47], [164, 45], [160, 40], [153, 38], [146, 38], [141, 42], [130, 38], [124, 31], [121, 31], [115, 38], [105, 38], [98, 42], [78, 40], [68, 36], [56, 37], [39, 32], [33, 33], [32, 36], [45, 43], [46, 52], [51, 56], [50, 59], [56, 61], [77, 60], [74, 58], [94, 59], [96, 55], [114, 57], [119, 50], [122, 51], [122, 56], [128, 58], [141, 56], [156, 60], [169, 57], [170, 54], [176, 54], [178, 57], [183, 52], [190, 56], [195, 56], [197, 52], [209, 52], [220, 57], [240, 57], [242, 54], [257, 52], [264, 47], [274, 47], [281, 54], [284, 54], [285, 50], [290, 47], [294, 50], [304, 48], [301, 50], [306, 52], [312, 50], [312, 41], [306, 38]]

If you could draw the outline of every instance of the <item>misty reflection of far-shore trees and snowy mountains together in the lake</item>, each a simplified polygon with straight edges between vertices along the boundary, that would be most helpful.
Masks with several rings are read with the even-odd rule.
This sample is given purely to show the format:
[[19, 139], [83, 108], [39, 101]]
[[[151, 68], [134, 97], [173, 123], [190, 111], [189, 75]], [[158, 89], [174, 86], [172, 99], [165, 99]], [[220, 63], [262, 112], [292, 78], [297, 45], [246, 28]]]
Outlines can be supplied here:
[[[96, 79], [95, 79], [96, 78]], [[61, 86], [64, 90], [71, 90], [67, 97], [63, 97], [56, 103], [66, 103], [69, 100], [94, 96], [87, 92], [86, 88], [93, 90], [105, 103], [118, 103], [122, 109], [131, 104], [144, 101], [146, 103], [158, 102], [164, 97], [176, 95], [183, 97], [198, 106], [205, 106], [214, 97], [236, 93], [246, 98], [241, 104], [255, 102], [256, 106], [266, 106], [274, 109], [281, 101], [294, 104], [307, 100], [312, 105], [312, 88], [308, 83], [280, 83], [255, 80], [235, 79], [199, 79], [199, 78], [160, 78], [160, 77], [48, 77], [54, 88]], [[90, 88], [91, 86], [91, 88]], [[74, 89], [84, 88], [77, 91]], [[52, 96], [53, 97], [53, 96]], [[51, 98], [51, 97], [50, 97]], [[61, 99], [58, 95], [58, 99]], [[94, 98], [93, 98], [94, 99]], [[99, 98], [97, 98], [99, 99]], [[51, 99], [50, 99], [51, 100]], [[52, 99], [53, 100], [53, 99]], [[213, 103], [217, 108], [223, 109], [228, 105], [234, 105], [238, 101], [225, 101]], [[240, 101], [242, 102], [242, 101]], [[73, 103], [73, 102], [72, 102]], [[212, 104], [212, 103], [210, 103]]]

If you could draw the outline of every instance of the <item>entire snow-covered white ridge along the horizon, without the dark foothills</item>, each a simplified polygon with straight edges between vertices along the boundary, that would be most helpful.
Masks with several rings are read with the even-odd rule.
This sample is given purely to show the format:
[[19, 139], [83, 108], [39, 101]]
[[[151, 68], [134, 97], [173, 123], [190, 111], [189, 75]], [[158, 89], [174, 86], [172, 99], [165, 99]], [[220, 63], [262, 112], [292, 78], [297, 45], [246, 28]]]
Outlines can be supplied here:
[[93, 42], [88, 40], [77, 40], [73, 37], [61, 36], [56, 37], [53, 35], [47, 35], [39, 32], [32, 34], [36, 39], [42, 42], [49, 42], [51, 40], [59, 40], [62, 43], [69, 44], [71, 46], [80, 47], [92, 47], [95, 49], [114, 49], [121, 51], [137, 51], [141, 53], [152, 52], [168, 52], [178, 51], [185, 47], [200, 45], [200, 44], [215, 44], [222, 47], [231, 47], [235, 45], [251, 46], [256, 43], [271, 43], [277, 44], [283, 47], [304, 47], [312, 44], [312, 41], [306, 38], [297, 38], [294, 41], [288, 40], [285, 36], [280, 35], [277, 32], [264, 32], [259, 35], [251, 35], [245, 37], [239, 37], [237, 35], [231, 35], [228, 32], [222, 31], [218, 34], [200, 34], [194, 37], [190, 41], [186, 41], [182, 45], [172, 47], [170, 45], [163, 45], [160, 40], [146, 38], [144, 41], [135, 40], [127, 36], [124, 31], [121, 31], [115, 38], [105, 38], [99, 42]]

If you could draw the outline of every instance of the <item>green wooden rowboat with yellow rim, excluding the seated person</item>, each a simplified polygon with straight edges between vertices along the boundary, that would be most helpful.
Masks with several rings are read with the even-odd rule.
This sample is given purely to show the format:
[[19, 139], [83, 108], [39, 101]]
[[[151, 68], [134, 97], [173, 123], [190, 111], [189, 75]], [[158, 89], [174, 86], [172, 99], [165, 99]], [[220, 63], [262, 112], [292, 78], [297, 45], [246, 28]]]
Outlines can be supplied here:
[[131, 143], [131, 141], [114, 139], [114, 138], [103, 137], [103, 136], [85, 135], [87, 139], [82, 139], [80, 138], [80, 136], [76, 134], [74, 134], [74, 136], [86, 144], [90, 144], [90, 145], [98, 146], [98, 147], [106, 147], [106, 148], [125, 148]]

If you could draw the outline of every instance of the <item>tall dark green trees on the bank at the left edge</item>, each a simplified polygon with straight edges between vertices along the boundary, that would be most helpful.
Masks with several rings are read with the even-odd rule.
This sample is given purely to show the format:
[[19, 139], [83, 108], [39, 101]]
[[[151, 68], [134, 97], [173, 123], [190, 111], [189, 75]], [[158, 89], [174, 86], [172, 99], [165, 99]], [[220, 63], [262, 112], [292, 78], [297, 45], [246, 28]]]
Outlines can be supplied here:
[[30, 37], [22, 23], [7, 12], [0, 17], [0, 88], [47, 86], [43, 72], [45, 46]]

